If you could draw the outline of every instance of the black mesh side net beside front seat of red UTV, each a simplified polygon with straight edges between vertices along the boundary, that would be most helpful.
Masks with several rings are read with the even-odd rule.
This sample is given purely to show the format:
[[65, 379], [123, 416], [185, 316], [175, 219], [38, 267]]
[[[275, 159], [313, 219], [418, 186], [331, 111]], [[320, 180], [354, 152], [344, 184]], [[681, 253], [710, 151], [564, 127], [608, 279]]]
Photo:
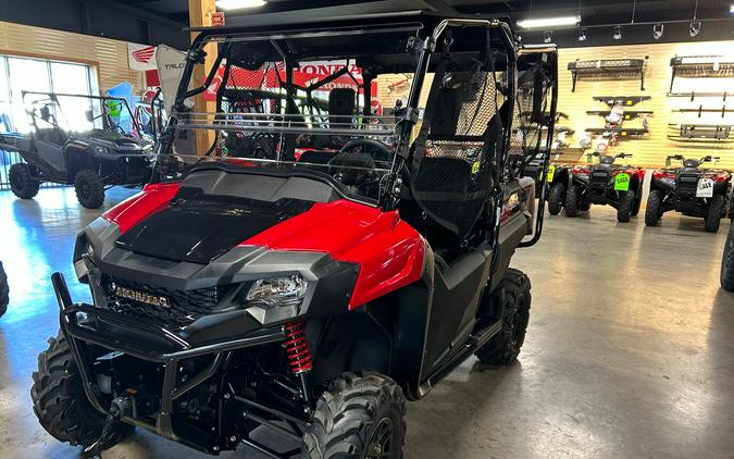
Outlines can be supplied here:
[[[436, 76], [438, 77], [438, 75]], [[449, 62], [428, 104], [433, 115], [412, 183], [422, 210], [464, 238], [492, 193], [502, 148], [494, 72]]]

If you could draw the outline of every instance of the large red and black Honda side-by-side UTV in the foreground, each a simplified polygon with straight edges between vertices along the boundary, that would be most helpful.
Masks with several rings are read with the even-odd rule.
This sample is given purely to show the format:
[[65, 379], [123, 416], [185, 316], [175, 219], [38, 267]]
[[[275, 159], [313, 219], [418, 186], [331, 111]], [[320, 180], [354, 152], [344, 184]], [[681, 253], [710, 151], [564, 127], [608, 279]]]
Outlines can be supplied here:
[[[35, 412], [95, 451], [139, 426], [210, 454], [400, 458], [406, 399], [472, 355], [520, 352], [531, 284], [509, 263], [539, 239], [545, 194], [509, 166], [509, 114], [531, 103], [549, 135], [528, 159], [549, 151], [556, 49], [474, 15], [197, 32], [153, 183], [77, 238], [94, 305], [52, 276]], [[194, 111], [217, 72], [216, 113]], [[402, 116], [374, 116], [373, 83], [406, 74]], [[182, 133], [207, 132], [197, 156]]]

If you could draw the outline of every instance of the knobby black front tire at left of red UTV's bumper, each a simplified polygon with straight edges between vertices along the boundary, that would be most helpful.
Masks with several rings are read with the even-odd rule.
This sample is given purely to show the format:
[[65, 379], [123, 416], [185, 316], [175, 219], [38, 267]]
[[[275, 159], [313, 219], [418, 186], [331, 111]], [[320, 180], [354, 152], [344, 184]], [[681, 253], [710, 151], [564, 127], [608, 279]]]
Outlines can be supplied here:
[[[87, 447], [99, 438], [105, 417], [89, 402], [82, 376], [63, 333], [49, 339], [49, 348], [38, 355], [38, 371], [33, 373], [33, 410], [46, 432], [60, 442]], [[133, 432], [124, 423], [113, 426], [109, 448]]]

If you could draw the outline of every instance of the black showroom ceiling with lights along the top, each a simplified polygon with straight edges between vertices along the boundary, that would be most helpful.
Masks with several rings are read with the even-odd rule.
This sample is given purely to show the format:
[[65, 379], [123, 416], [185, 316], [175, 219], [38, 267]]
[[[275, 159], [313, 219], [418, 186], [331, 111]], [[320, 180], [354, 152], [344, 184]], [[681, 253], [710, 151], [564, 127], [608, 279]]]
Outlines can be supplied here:
[[[582, 26], [589, 27], [587, 41], [579, 44], [575, 30], [553, 30], [552, 40], [561, 46], [624, 45], [651, 42], [651, 25], [668, 23], [661, 41], [692, 39], [688, 22], [694, 15], [696, 0], [362, 0], [380, 3], [386, 10], [419, 9], [426, 4], [438, 11], [483, 13], [510, 16], [513, 20], [526, 17], [549, 17], [575, 15], [582, 17]], [[699, 0], [697, 17], [702, 21], [697, 40], [734, 39], [734, 21], [730, 7], [734, 0]], [[234, 21], [237, 15], [276, 13], [312, 8], [349, 5], [348, 0], [268, 0], [268, 4], [256, 10], [227, 12]], [[412, 7], [414, 5], [414, 7]], [[411, 8], [412, 7], [412, 8]], [[611, 40], [614, 24], [634, 22], [644, 25], [625, 26], [623, 39]], [[59, 13], [63, 10], [64, 14]], [[358, 11], [358, 7], [354, 5]], [[61, 21], [60, 17], [77, 17], [78, 21]], [[708, 20], [720, 21], [708, 21]], [[166, 42], [185, 47], [187, 34], [181, 28], [188, 25], [188, 0], [25, 0], [0, 1], [0, 20], [21, 22], [50, 28], [60, 28], [91, 35], [140, 42]], [[72, 21], [74, 22], [74, 21]], [[607, 25], [601, 27], [600, 25]], [[598, 26], [598, 27], [597, 27]], [[524, 41], [538, 41], [543, 30], [522, 33]]]

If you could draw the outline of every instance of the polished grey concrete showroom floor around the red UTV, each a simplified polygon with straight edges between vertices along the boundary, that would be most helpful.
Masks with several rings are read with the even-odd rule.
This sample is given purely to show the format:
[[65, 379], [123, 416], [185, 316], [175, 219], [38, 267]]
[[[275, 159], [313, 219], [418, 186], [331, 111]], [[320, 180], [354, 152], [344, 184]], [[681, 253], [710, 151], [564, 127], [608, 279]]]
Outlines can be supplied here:
[[[108, 207], [133, 191], [113, 190]], [[0, 319], [0, 457], [75, 458], [36, 422], [36, 355], [58, 328], [49, 275], [75, 298], [76, 232], [97, 216], [72, 190], [21, 201], [0, 193], [0, 260], [11, 306]], [[548, 218], [543, 240], [513, 264], [533, 282], [520, 361], [472, 358], [408, 407], [408, 458], [733, 458], [734, 294], [719, 289], [729, 222], [665, 215], [618, 224], [609, 208]], [[104, 458], [204, 457], [137, 432]], [[239, 451], [225, 457], [260, 457]]]

